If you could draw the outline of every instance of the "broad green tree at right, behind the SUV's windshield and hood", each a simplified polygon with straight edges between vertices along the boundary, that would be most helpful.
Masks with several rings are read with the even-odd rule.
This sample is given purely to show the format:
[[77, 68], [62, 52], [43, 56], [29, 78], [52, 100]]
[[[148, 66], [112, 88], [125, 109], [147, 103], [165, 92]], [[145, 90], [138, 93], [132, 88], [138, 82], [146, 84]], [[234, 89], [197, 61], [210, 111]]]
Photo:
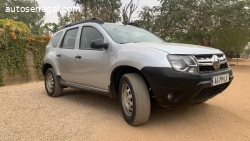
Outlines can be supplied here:
[[168, 41], [212, 46], [221, 29], [247, 32], [246, 7], [250, 7], [247, 0], [161, 0], [154, 11], [159, 29], [155, 33]]

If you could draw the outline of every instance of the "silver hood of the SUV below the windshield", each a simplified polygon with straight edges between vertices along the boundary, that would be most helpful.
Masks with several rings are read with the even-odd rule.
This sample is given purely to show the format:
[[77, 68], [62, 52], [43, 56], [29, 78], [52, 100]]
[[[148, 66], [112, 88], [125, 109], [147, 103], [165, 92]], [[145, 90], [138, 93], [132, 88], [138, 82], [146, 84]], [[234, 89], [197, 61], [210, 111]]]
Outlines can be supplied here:
[[218, 49], [179, 43], [129, 43], [129, 46], [148, 47], [165, 51], [169, 54], [222, 54]]

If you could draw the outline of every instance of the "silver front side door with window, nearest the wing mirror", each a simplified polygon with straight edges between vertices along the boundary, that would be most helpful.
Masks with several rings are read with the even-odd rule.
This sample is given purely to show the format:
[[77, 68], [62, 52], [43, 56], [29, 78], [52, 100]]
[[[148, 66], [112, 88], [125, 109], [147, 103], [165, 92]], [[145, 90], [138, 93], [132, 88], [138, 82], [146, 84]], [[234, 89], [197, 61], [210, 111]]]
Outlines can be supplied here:
[[76, 83], [108, 90], [109, 77], [109, 58], [110, 50], [93, 49], [90, 43], [94, 40], [105, 40], [102, 33], [95, 27], [84, 26], [81, 31], [79, 49], [75, 50], [75, 75]]

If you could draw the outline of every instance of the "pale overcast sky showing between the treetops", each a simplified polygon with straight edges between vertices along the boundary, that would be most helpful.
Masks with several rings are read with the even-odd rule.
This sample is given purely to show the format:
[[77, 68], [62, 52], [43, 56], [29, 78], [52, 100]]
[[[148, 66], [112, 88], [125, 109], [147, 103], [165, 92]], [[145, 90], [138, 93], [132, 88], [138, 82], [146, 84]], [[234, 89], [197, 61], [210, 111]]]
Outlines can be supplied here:
[[[62, 7], [74, 7], [74, 2], [73, 0], [37, 0], [38, 4], [40, 7], [51, 7], [53, 9], [53, 7], [58, 7], [62, 8]], [[121, 0], [123, 6], [125, 4], [128, 4], [130, 2], [130, 0]], [[136, 3], [137, 0], [134, 0], [134, 3]], [[138, 8], [137, 11], [134, 12], [134, 14], [132, 15], [132, 20], [136, 19], [136, 17], [138, 17], [138, 11], [141, 11], [141, 8], [143, 6], [149, 6], [149, 7], [153, 7], [153, 6], [158, 6], [159, 5], [159, 1], [158, 0], [140, 0], [139, 4], [138, 4]], [[47, 12], [45, 15], [45, 23], [47, 22], [55, 22], [58, 23], [58, 18], [57, 18], [57, 14], [56, 12]]]

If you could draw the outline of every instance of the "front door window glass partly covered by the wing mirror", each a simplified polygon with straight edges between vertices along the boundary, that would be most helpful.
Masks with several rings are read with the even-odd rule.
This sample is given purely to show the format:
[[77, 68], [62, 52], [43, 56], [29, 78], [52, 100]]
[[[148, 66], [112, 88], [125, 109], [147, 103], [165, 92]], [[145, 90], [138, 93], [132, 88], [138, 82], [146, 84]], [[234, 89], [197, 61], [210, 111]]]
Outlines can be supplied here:
[[102, 34], [94, 27], [83, 27], [81, 33], [80, 49], [91, 49], [90, 44], [94, 40], [104, 41]]

